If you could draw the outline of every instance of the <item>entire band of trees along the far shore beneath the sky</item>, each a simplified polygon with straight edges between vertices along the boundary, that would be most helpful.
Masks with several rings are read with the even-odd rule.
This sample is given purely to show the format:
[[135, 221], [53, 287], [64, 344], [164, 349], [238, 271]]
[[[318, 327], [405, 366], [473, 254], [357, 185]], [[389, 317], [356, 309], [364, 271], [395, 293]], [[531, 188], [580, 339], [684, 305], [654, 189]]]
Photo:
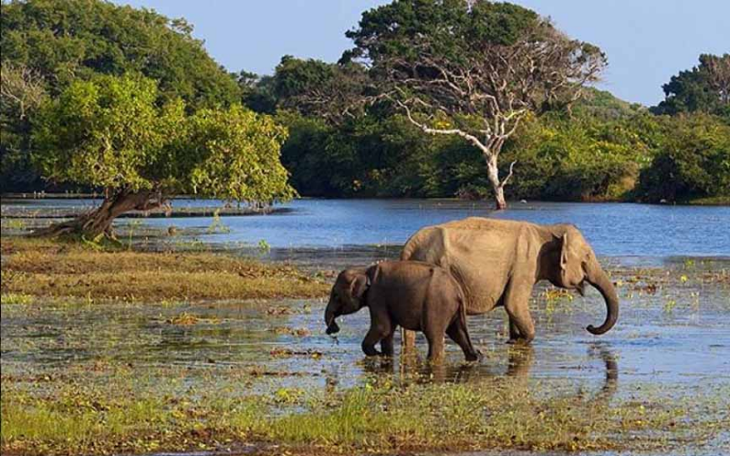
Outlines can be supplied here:
[[[500, 192], [503, 199], [563, 201], [730, 196], [728, 54], [701, 56], [697, 67], [664, 85], [658, 106], [645, 109], [589, 87], [606, 63], [598, 47], [510, 4], [396, 0], [363, 13], [348, 32], [353, 47], [338, 63], [285, 56], [270, 76], [225, 71], [184, 19], [99, 0], [3, 2], [0, 25], [5, 192], [48, 182], [130, 191], [104, 177], [115, 170], [111, 161], [104, 162], [107, 174], [96, 172], [93, 158], [104, 144], [99, 130], [77, 124], [77, 136], [63, 132], [66, 142], [57, 142], [62, 132], [54, 129], [71, 114], [58, 106], [66, 97], [122, 117], [156, 109], [153, 118], [177, 122], [181, 134], [174, 140], [139, 156], [115, 155], [129, 161], [114, 161], [123, 171], [114, 175], [146, 192], [205, 188], [201, 194], [274, 199], [293, 194], [283, 183], [288, 171], [288, 182], [305, 196], [497, 196], [497, 205]], [[115, 93], [89, 105], [89, 94], [109, 88], [154, 99], [132, 102]], [[206, 147], [214, 131], [246, 147], [226, 136], [235, 121], [231, 130], [216, 130], [225, 112], [280, 141], [287, 171], [269, 160], [279, 153], [276, 145], [255, 160], [211, 159]], [[192, 133], [203, 125], [207, 133]], [[147, 127], [128, 127], [129, 147], [141, 149], [134, 129]], [[70, 142], [79, 138], [86, 149]], [[184, 140], [191, 143], [183, 154]], [[193, 169], [206, 157], [205, 179], [225, 166], [237, 166], [237, 173], [205, 187]], [[169, 165], [164, 173], [154, 165], [162, 159]], [[253, 174], [245, 160], [253, 160]], [[256, 172], [272, 176], [264, 185], [269, 192], [240, 186], [238, 177]]]

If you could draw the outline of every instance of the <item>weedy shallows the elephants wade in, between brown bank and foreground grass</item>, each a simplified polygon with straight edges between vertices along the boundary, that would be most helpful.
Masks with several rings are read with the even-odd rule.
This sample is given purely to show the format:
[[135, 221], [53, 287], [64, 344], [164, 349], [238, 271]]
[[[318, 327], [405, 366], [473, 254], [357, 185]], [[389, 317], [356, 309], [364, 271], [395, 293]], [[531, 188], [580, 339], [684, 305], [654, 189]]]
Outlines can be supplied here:
[[[339, 318], [337, 339], [326, 336], [322, 300], [3, 306], [3, 380], [43, 394], [54, 384], [46, 386], [43, 378], [105, 383], [118, 375], [114, 367], [124, 366], [135, 378], [137, 393], [184, 397], [191, 391], [217, 396], [270, 395], [280, 389], [325, 392], [373, 377], [395, 382], [511, 377], [532, 382], [548, 396], [641, 401], [661, 391], [663, 397], [681, 400], [730, 384], [728, 270], [727, 261], [615, 267], [620, 322], [602, 337], [585, 330], [604, 316], [597, 292], [548, 299], [545, 287], [537, 286], [531, 303], [537, 325], [533, 347], [506, 345], [505, 314], [497, 309], [468, 320], [484, 359], [466, 365], [459, 348], [448, 343], [443, 366], [435, 368], [422, 362], [422, 337], [418, 360], [366, 359], [360, 351], [369, 326], [364, 311]], [[647, 285], [657, 285], [656, 291], [647, 291]], [[172, 323], [186, 314], [198, 322]], [[543, 381], [558, 382], [561, 389], [540, 387]], [[729, 445], [730, 432], [725, 432], [704, 447], [676, 454], [718, 454]]]

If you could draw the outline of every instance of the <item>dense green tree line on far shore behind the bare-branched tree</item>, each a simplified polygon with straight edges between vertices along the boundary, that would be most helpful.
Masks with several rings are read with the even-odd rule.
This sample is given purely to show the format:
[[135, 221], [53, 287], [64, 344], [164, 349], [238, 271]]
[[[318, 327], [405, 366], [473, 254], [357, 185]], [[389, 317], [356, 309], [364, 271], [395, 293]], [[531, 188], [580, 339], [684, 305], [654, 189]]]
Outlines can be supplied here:
[[[712, 70], [702, 63], [710, 60], [717, 62]], [[651, 109], [583, 88], [568, 105], [530, 110], [501, 151], [501, 175], [513, 171], [507, 198], [683, 202], [730, 196], [728, 78], [722, 73], [728, 62], [730, 55], [702, 56], [700, 66], [664, 86], [666, 99]], [[355, 114], [336, 101], [323, 113], [318, 95], [337, 92], [330, 86], [351, 92], [364, 78], [351, 65], [287, 56], [273, 76], [246, 86], [249, 107], [276, 113], [289, 128], [282, 161], [298, 192], [493, 197], [484, 154], [468, 141], [423, 135], [407, 113], [383, 104]], [[712, 76], [696, 76], [705, 72]], [[692, 76], [682, 76], [687, 73]], [[454, 125], [438, 114], [430, 122]]]

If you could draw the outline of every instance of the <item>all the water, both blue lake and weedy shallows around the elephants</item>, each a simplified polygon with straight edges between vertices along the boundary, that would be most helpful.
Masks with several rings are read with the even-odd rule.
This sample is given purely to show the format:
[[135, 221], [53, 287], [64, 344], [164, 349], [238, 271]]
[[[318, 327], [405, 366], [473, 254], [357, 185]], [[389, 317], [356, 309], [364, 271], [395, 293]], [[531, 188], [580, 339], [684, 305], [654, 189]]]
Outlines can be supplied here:
[[[26, 209], [69, 203], [88, 201], [32, 201]], [[187, 202], [175, 202], [181, 203]], [[575, 382], [581, 394], [638, 400], [647, 385], [683, 398], [730, 384], [730, 208], [527, 203], [491, 212], [482, 202], [417, 200], [302, 200], [288, 206], [292, 211], [284, 214], [223, 217], [227, 233], [207, 233], [211, 220], [205, 218], [144, 224], [165, 229], [173, 224], [182, 229], [177, 237], [183, 240], [244, 254], [254, 253], [251, 245], [263, 239], [272, 249], [259, 253], [262, 257], [337, 270], [397, 257], [399, 245], [421, 226], [470, 215], [575, 223], [619, 285], [619, 324], [594, 337], [585, 326], [602, 322], [605, 315], [595, 290], [572, 300], [548, 299], [545, 286], [538, 285], [531, 303], [537, 326], [533, 347], [505, 344], [505, 313], [497, 309], [468, 320], [472, 339], [485, 355], [481, 362], [465, 365], [458, 347], [449, 344], [443, 367], [429, 368], [398, 357], [365, 359], [360, 341], [369, 316], [364, 311], [340, 317], [337, 339], [326, 336], [322, 300], [93, 306], [43, 302], [3, 306], [4, 381], [85, 376], [102, 363], [129, 365], [139, 374], [140, 389], [166, 388], [171, 393], [193, 388], [231, 394], [345, 389], [373, 376], [413, 381], [412, 372], [421, 374], [417, 381], [565, 379]], [[179, 242], [153, 239], [151, 248]], [[190, 326], [172, 323], [184, 314], [199, 320]], [[423, 356], [422, 337], [419, 350]], [[162, 387], [159, 380], [171, 372], [182, 381]], [[84, 378], [103, 382], [105, 375]], [[725, 435], [708, 449], [689, 453], [714, 454], [728, 443], [730, 435]]]

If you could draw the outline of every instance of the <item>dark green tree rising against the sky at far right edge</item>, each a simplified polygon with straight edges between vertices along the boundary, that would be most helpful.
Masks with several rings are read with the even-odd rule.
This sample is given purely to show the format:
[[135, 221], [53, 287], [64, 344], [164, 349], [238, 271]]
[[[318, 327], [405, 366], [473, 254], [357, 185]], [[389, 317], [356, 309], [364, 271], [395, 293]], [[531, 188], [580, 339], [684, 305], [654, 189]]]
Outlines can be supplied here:
[[722, 57], [703, 54], [697, 67], [680, 71], [662, 88], [666, 98], [652, 108], [655, 114], [699, 111], [727, 116], [730, 112], [730, 54]]

